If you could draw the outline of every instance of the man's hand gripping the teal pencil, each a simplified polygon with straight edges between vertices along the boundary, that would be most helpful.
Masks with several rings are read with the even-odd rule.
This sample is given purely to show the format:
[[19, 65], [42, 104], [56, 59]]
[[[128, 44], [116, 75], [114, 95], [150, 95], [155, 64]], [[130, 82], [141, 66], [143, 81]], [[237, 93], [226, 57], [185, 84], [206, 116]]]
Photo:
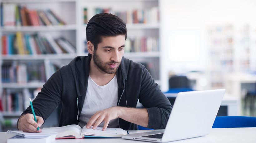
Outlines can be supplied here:
[[37, 127], [41, 127], [41, 125], [44, 123], [44, 120], [42, 117], [36, 116], [37, 122], [34, 119], [33, 114], [25, 114], [22, 115], [18, 121], [18, 130], [22, 130], [24, 132], [41, 132], [42, 129], [39, 129], [37, 131]]

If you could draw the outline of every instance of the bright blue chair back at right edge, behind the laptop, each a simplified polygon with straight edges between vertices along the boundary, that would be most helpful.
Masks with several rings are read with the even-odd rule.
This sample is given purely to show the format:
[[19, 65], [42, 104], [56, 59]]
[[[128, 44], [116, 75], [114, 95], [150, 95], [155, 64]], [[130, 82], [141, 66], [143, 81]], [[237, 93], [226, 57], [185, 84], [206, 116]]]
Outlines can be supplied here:
[[256, 117], [219, 116], [212, 128], [256, 127]]

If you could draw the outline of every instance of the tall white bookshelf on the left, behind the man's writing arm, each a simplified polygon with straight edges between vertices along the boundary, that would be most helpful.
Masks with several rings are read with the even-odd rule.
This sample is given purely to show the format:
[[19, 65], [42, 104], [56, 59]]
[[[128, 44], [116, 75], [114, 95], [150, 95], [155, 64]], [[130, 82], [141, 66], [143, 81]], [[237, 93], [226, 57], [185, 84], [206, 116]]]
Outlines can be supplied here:
[[[26, 7], [29, 12], [36, 10], [44, 11], [50, 9], [54, 12], [60, 19], [65, 21], [65, 25], [33, 25], [33, 26], [24, 26], [24, 25], [2, 25], [0, 28], [1, 37], [4, 35], [17, 35], [17, 33], [21, 33], [22, 35], [34, 35], [37, 34], [38, 37], [46, 37], [47, 35], [51, 35], [52, 38], [57, 39], [59, 37], [63, 37], [64, 39], [68, 39], [70, 44], [74, 46], [74, 53], [63, 52], [63, 53], [27, 53], [27, 54], [13, 54], [7, 53], [3, 54], [3, 46], [2, 40], [1, 44], [1, 56], [0, 56], [0, 72], [1, 72], [1, 82], [0, 82], [0, 92], [2, 103], [6, 102], [3, 106], [5, 106], [4, 111], [1, 112], [4, 121], [2, 121], [3, 130], [8, 129], [16, 129], [16, 122], [22, 111], [27, 108], [27, 103], [25, 102], [27, 98], [34, 97], [38, 93], [38, 89], [42, 88], [45, 81], [50, 78], [52, 75], [52, 65], [58, 63], [59, 66], [63, 64], [68, 64], [71, 59], [80, 55], [78, 51], [81, 46], [77, 44], [79, 29], [78, 29], [78, 16], [77, 15], [77, 7], [78, 0], [2, 0], [1, 4], [6, 5], [17, 5], [20, 7]], [[2, 11], [4, 8], [2, 9]], [[1, 12], [2, 12], [1, 11]], [[20, 11], [19, 11], [20, 12]], [[1, 13], [1, 17], [4, 16], [4, 12]], [[27, 17], [26, 17], [27, 18]], [[3, 23], [5, 20], [1, 18], [1, 22]], [[42, 22], [42, 21], [41, 21]], [[40, 23], [42, 24], [42, 23]], [[9, 37], [8, 37], [9, 38]], [[24, 42], [24, 41], [22, 41]], [[25, 41], [24, 43], [26, 43]], [[27, 44], [27, 43], [26, 43]], [[40, 49], [41, 50], [41, 49]], [[57, 62], [56, 62], [57, 61]], [[60, 62], [61, 61], [61, 62]], [[6, 71], [3, 70], [5, 65], [26, 65], [25, 75], [28, 76], [25, 81], [15, 81], [15, 82], [4, 82], [3, 75], [7, 74]], [[37, 66], [41, 65], [41, 71], [37, 70]], [[7, 67], [7, 70], [9, 67]], [[17, 70], [17, 69], [15, 69]], [[14, 71], [15, 71], [14, 70]], [[3, 73], [3, 71], [5, 73]], [[11, 71], [11, 70], [9, 70]], [[35, 73], [36, 72], [36, 73]], [[38, 74], [42, 75], [43, 78], [37, 78]], [[17, 73], [16, 73], [17, 74]], [[32, 74], [32, 75], [30, 75]], [[37, 74], [37, 75], [35, 75]], [[14, 74], [15, 75], [15, 74]], [[10, 75], [9, 75], [10, 77]], [[32, 78], [31, 78], [32, 77]], [[9, 79], [10, 80], [10, 79]], [[3, 97], [5, 96], [5, 97]], [[33, 98], [32, 98], [33, 99]], [[5, 100], [5, 101], [4, 101]], [[8, 101], [8, 102], [7, 102]], [[1, 131], [1, 129], [0, 129]]]

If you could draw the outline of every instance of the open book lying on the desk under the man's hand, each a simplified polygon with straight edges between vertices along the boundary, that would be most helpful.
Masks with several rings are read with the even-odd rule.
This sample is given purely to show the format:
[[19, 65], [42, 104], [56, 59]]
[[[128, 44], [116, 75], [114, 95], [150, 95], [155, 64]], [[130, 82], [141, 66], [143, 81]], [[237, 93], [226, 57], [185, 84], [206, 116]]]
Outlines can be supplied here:
[[106, 128], [105, 131], [102, 131], [102, 127], [97, 127], [96, 129], [89, 128], [86, 126], [81, 128], [78, 125], [67, 125], [63, 127], [45, 127], [43, 131], [55, 131], [57, 132], [56, 139], [65, 139], [65, 138], [76, 138], [82, 139], [84, 137], [113, 137], [121, 138], [122, 135], [129, 134], [128, 131], [125, 131], [121, 128]]

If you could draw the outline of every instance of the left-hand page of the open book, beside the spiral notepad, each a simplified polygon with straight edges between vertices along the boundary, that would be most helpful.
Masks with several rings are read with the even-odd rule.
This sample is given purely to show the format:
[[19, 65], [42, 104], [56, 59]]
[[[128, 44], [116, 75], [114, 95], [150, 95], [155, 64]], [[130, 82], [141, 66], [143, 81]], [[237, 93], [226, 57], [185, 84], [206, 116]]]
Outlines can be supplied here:
[[80, 138], [82, 128], [78, 125], [67, 125], [63, 127], [45, 127], [42, 130], [57, 132], [58, 134], [56, 138], [65, 138], [65, 136], [75, 136], [75, 138]]

